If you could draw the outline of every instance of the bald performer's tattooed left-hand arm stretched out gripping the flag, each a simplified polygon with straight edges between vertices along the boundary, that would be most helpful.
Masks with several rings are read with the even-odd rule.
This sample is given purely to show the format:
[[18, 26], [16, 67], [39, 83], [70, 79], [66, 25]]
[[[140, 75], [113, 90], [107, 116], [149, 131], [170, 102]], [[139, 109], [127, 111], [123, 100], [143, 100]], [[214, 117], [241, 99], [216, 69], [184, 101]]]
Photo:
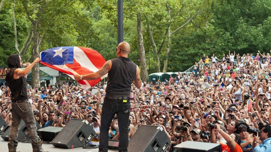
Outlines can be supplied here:
[[[95, 79], [98, 79], [98, 78], [106, 75], [108, 73], [108, 71], [111, 69], [111, 66], [112, 66], [112, 62], [111, 62], [111, 60], [108, 60], [108, 61], [105, 62], [105, 64], [103, 64], [103, 67], [101, 69], [99, 69], [97, 72], [90, 73], [90, 74], [87, 74], [87, 75], [83, 75], [83, 80], [95, 80]], [[80, 75], [75, 74], [74, 79], [76, 81], [80, 80]]]

